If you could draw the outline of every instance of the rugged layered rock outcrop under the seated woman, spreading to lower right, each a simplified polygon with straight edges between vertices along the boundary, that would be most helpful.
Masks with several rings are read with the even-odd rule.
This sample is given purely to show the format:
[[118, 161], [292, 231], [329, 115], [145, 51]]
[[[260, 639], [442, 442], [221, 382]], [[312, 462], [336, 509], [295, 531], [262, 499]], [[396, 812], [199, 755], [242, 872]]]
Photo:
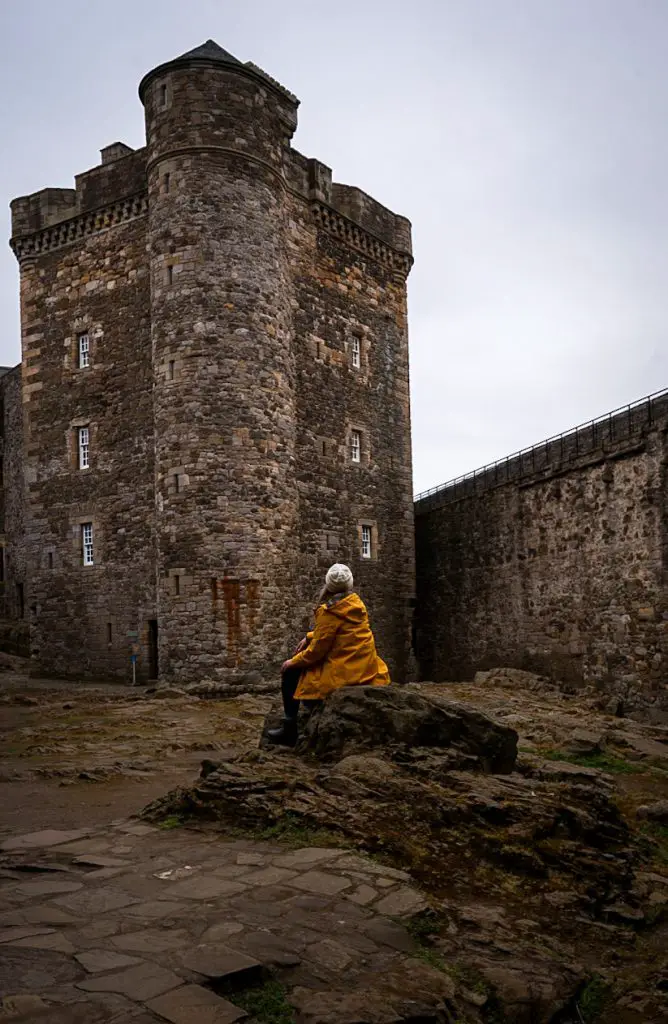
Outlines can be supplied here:
[[[523, 703], [505, 686], [484, 692], [494, 715], [449, 699], [445, 687], [341, 690], [302, 717], [295, 751], [263, 741], [206, 762], [191, 787], [147, 814], [255, 831], [290, 822], [352, 841], [422, 885], [428, 909], [416, 904], [408, 916], [417, 914], [427, 962], [456, 979], [457, 1006], [470, 999], [464, 1019], [570, 1024], [588, 998], [592, 964], [606, 970], [611, 948], [631, 955], [636, 935], [655, 934], [668, 885], [643, 864], [655, 840], [633, 835], [614, 776], [590, 764], [616, 767], [615, 721], [583, 715], [554, 693], [551, 703], [533, 698], [539, 725], [527, 693]], [[277, 707], [265, 728], [280, 714]], [[533, 750], [517, 753], [520, 724], [549, 757], [524, 737]], [[629, 755], [654, 743], [646, 750], [655, 756], [658, 739], [633, 728], [624, 734]], [[557, 759], [557, 744], [584, 763]], [[658, 813], [646, 821], [660, 821]], [[382, 988], [386, 1005], [386, 979]], [[365, 992], [292, 995], [299, 1020], [347, 1024], [363, 1019]], [[403, 1012], [398, 1002], [391, 1019]], [[418, 1017], [442, 1019], [426, 1010]]]

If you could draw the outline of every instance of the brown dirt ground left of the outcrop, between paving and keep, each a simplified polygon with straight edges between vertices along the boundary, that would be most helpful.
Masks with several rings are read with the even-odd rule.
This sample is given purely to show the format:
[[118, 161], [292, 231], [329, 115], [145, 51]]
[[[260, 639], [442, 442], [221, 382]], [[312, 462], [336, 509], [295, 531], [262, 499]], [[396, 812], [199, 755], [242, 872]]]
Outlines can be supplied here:
[[[15, 663], [14, 663], [15, 665]], [[0, 676], [0, 834], [138, 813], [203, 758], [252, 742], [270, 700], [162, 698], [112, 684]]]

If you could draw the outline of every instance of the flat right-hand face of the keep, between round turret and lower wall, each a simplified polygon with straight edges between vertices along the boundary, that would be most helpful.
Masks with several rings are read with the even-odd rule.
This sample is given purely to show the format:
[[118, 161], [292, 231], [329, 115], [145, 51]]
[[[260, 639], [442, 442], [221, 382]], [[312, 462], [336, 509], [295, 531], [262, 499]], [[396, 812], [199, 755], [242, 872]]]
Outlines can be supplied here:
[[[316, 168], [318, 170], [318, 168]], [[406, 221], [359, 193], [357, 221], [338, 216], [320, 165], [321, 200], [295, 201], [292, 246], [297, 309], [300, 598], [304, 621], [333, 561], [350, 565], [377, 646], [392, 678], [411, 668], [414, 597], [413, 498], [406, 274]], [[350, 204], [352, 206], [352, 204]], [[314, 215], [316, 214], [316, 215]], [[356, 225], [384, 228], [373, 252]], [[378, 239], [379, 236], [373, 236]], [[360, 353], [356, 366], [352, 346]], [[351, 459], [351, 431], [362, 439]], [[362, 526], [371, 557], [362, 556]]]

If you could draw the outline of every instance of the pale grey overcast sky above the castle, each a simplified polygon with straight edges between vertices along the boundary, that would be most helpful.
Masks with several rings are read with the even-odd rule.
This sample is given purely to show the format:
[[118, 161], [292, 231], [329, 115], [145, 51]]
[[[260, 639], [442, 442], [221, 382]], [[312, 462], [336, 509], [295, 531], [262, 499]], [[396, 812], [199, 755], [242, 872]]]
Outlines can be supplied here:
[[668, 385], [668, 0], [0, 3], [5, 238], [13, 197], [142, 145], [140, 77], [209, 37], [411, 219], [416, 490]]

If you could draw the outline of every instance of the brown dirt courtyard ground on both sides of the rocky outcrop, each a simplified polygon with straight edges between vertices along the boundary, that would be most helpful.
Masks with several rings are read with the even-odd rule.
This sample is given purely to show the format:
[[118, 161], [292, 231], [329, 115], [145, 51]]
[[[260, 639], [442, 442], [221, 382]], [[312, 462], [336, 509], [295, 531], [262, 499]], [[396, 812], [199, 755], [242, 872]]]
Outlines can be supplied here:
[[[192, 781], [204, 758], [255, 745], [273, 703], [250, 694], [215, 700], [31, 680], [19, 659], [7, 660], [10, 671], [0, 674], [0, 833], [76, 828], [137, 813]], [[668, 799], [665, 729], [601, 715], [559, 693], [471, 684], [449, 684], [448, 693], [515, 728], [526, 755], [556, 755], [578, 729], [604, 733], [611, 754], [624, 759], [619, 767], [633, 769], [613, 776], [628, 812]]]

